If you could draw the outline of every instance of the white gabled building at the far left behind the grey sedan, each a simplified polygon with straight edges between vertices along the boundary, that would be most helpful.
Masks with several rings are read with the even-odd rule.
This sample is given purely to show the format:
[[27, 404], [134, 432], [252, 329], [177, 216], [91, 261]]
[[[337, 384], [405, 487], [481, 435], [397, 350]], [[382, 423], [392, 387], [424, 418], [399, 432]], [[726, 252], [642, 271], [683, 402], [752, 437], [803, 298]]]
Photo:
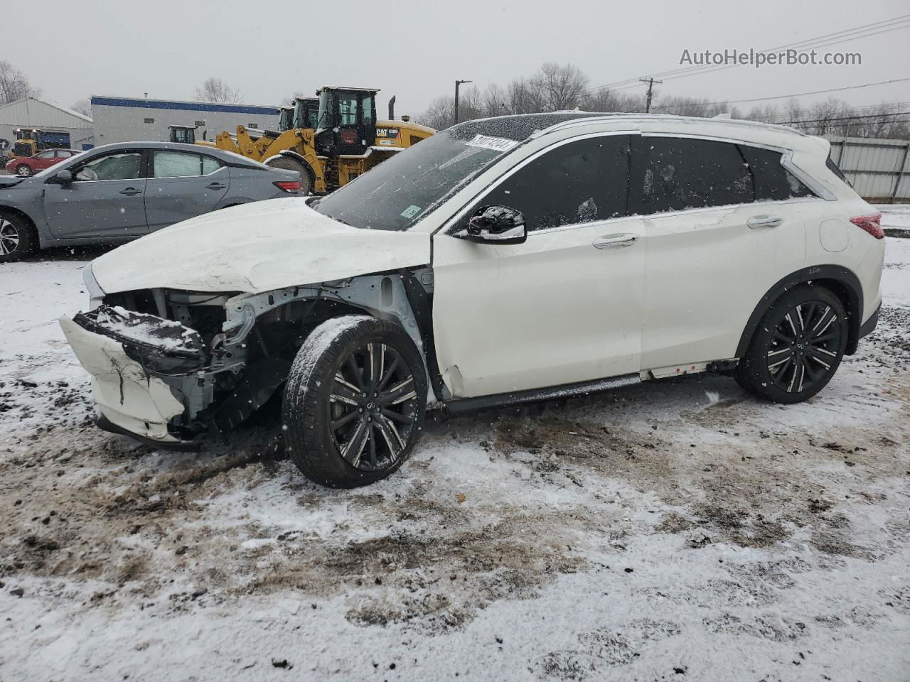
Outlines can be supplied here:
[[0, 152], [13, 147], [16, 128], [42, 131], [51, 146], [87, 149], [95, 144], [91, 118], [35, 97], [0, 105]]

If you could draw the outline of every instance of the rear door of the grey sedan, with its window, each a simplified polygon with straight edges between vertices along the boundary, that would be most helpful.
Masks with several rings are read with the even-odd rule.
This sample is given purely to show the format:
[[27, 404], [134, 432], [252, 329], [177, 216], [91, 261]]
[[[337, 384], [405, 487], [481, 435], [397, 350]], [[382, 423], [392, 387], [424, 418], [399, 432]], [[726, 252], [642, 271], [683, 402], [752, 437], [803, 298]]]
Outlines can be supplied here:
[[149, 154], [149, 231], [213, 211], [227, 195], [230, 173], [214, 156], [167, 149], [151, 149]]

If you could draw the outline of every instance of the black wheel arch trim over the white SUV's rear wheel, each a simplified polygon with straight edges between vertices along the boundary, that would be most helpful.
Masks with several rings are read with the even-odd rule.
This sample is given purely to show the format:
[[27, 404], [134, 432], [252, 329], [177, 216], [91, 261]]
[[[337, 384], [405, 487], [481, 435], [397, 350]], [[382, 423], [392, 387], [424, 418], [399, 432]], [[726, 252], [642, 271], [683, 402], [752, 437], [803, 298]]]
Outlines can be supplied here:
[[844, 301], [844, 308], [847, 312], [847, 347], [844, 355], [852, 356], [856, 352], [860, 326], [863, 322], [863, 286], [860, 284], [859, 277], [846, 267], [827, 265], [804, 267], [778, 280], [774, 286], [768, 289], [746, 322], [743, 335], [740, 336], [739, 344], [736, 346], [736, 357], [745, 355], [749, 342], [752, 341], [755, 330], [768, 308], [790, 289], [809, 282], [821, 282], [823, 285], [824, 283], [834, 283], [834, 287], [829, 286], [829, 288], [833, 288], [834, 295]]

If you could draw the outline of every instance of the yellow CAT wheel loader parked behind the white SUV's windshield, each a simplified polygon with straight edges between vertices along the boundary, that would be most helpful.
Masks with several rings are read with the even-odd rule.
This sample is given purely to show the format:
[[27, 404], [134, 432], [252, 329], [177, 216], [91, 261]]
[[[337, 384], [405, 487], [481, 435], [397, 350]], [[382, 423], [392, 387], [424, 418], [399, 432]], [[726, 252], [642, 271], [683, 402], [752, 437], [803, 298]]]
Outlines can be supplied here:
[[[388, 121], [376, 120], [376, 93], [359, 87], [323, 87], [316, 99], [298, 97], [287, 130], [264, 130], [250, 135], [243, 125], [215, 138], [219, 149], [247, 156], [276, 168], [296, 170], [304, 194], [325, 194], [348, 184], [401, 150], [436, 131], [394, 120], [394, 97]], [[286, 125], [288, 115], [282, 111]]]

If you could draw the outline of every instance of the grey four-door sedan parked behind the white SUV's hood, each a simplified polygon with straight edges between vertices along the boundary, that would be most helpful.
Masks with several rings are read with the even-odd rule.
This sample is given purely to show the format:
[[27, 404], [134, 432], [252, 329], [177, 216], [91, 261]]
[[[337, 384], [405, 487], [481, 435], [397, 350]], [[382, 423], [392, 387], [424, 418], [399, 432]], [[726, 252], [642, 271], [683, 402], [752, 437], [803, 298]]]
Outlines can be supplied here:
[[122, 244], [227, 206], [300, 194], [297, 171], [215, 147], [99, 146], [33, 177], [0, 177], [0, 263], [36, 248]]

